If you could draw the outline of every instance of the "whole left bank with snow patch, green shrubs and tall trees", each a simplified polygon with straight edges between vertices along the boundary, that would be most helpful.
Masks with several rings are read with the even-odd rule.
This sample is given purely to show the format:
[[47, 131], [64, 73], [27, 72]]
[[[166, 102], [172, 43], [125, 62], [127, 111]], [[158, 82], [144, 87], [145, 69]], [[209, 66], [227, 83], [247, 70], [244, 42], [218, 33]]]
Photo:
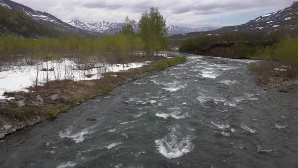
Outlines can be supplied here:
[[[0, 99], [0, 139], [54, 119], [123, 83], [186, 61], [159, 53], [168, 48], [168, 33], [158, 8], [141, 14], [138, 33], [131, 23], [126, 17], [120, 32], [98, 38], [0, 36], [0, 79], [5, 82], [0, 93], [10, 85], [4, 96], [14, 98]], [[14, 88], [7, 81], [23, 83]]]

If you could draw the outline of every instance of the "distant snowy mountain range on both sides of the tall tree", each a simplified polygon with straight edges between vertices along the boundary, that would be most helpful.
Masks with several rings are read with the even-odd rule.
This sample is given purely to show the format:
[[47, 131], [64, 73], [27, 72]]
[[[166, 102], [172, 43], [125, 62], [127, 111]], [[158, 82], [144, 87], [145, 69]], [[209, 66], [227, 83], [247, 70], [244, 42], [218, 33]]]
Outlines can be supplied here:
[[[119, 32], [122, 28], [123, 23], [110, 23], [106, 21], [98, 22], [98, 23], [88, 23], [81, 20], [71, 20], [67, 21], [68, 24], [88, 31], [95, 31], [95, 32], [101, 32], [104, 34], [113, 34], [116, 31]], [[136, 21], [132, 21], [132, 26], [135, 31], [138, 31], [138, 23]], [[196, 31], [211, 31], [215, 30], [214, 27], [201, 27], [201, 28], [189, 28], [189, 27], [181, 27], [181, 26], [167, 26], [168, 33], [170, 35], [172, 34], [182, 34], [182, 33], [188, 33], [188, 32], [196, 32]]]

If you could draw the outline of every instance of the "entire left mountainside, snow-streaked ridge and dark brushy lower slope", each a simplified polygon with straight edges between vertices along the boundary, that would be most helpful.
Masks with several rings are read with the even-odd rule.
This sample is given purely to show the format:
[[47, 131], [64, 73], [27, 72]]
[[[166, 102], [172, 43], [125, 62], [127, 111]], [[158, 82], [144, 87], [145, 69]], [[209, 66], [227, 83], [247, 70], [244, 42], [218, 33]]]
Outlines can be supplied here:
[[0, 9], [0, 34], [33, 38], [69, 34], [98, 35], [69, 25], [51, 14], [33, 10], [10, 0], [0, 0]]

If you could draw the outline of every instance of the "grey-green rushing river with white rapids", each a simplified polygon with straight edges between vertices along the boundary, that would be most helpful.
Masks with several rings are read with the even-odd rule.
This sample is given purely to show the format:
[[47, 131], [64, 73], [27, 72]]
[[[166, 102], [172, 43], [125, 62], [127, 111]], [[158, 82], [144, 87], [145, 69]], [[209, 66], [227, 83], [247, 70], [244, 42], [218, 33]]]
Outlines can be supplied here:
[[1, 141], [0, 166], [298, 166], [297, 92], [257, 86], [249, 60], [186, 56]]

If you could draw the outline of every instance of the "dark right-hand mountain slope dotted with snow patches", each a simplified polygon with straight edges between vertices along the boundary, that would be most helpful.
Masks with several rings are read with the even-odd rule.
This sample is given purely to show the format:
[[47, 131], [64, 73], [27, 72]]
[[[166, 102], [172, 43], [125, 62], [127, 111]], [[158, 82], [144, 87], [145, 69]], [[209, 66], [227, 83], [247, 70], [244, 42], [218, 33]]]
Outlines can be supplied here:
[[238, 26], [223, 27], [218, 31], [272, 31], [281, 27], [298, 28], [298, 2], [283, 10], [260, 16]]

